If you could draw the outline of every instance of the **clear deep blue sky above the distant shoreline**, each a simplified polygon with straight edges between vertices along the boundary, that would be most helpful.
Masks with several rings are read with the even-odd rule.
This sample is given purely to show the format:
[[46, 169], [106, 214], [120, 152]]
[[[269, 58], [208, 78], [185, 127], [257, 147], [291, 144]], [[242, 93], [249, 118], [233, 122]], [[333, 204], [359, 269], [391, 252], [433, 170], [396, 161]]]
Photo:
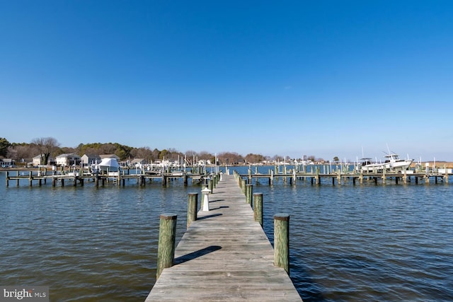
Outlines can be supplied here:
[[0, 137], [453, 161], [452, 16], [452, 1], [0, 0]]

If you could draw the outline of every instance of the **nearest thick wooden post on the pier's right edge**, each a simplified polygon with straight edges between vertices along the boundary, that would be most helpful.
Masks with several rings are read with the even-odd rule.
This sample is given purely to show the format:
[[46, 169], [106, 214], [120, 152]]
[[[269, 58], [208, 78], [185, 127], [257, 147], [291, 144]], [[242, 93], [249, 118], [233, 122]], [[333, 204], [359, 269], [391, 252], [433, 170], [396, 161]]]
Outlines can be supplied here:
[[274, 215], [274, 265], [289, 276], [289, 214]]

